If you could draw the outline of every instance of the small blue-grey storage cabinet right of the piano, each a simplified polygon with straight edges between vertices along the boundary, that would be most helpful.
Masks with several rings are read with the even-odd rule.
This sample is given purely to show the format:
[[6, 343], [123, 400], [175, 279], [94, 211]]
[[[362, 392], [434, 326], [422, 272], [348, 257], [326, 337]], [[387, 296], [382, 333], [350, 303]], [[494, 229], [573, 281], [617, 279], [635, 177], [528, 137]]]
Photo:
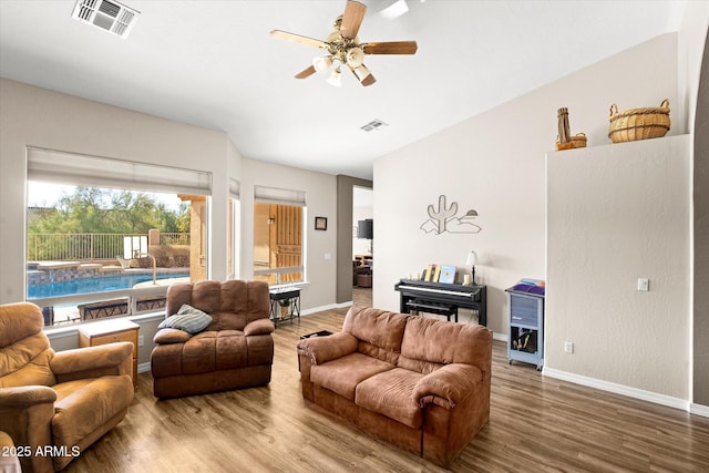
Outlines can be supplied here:
[[544, 366], [544, 287], [518, 284], [507, 292], [507, 359]]

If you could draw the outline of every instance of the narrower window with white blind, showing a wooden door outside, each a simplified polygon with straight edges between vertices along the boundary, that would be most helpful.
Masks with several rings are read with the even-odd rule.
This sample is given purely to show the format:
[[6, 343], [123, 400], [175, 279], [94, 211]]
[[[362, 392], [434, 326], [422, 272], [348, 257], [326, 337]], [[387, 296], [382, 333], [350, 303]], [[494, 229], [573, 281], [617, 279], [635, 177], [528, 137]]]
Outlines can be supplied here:
[[254, 276], [270, 285], [305, 280], [305, 193], [254, 189]]

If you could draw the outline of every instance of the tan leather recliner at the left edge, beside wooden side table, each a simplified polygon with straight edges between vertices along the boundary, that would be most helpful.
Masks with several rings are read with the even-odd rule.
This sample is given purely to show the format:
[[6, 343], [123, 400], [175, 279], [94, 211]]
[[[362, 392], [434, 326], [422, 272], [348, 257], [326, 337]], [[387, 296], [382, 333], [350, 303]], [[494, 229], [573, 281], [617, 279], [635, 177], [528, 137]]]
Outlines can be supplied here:
[[0, 431], [23, 449], [23, 472], [66, 466], [125, 417], [133, 343], [54, 352], [39, 307], [0, 306]]

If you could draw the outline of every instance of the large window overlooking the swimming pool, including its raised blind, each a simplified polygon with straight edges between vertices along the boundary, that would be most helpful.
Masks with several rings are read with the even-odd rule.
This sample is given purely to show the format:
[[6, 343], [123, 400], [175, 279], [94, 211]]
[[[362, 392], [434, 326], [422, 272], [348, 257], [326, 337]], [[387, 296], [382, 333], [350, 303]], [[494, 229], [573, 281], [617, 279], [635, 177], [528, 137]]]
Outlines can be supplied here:
[[27, 299], [45, 326], [164, 307], [207, 275], [210, 176], [28, 150]]

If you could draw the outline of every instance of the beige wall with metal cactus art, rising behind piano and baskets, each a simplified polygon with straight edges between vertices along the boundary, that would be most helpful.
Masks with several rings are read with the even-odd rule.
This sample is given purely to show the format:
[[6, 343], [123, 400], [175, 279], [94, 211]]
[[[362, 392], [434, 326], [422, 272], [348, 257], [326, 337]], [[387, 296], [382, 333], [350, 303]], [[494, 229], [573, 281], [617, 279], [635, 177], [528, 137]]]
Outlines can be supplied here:
[[[589, 146], [609, 143], [608, 107], [677, 104], [677, 35], [666, 34], [608, 58], [522, 97], [374, 162], [374, 305], [398, 309], [394, 282], [429, 263], [464, 268], [487, 285], [487, 325], [506, 336], [505, 288], [545, 278], [545, 154], [554, 150], [557, 109], [569, 111], [572, 133]], [[653, 76], [653, 81], [646, 78]], [[618, 80], [623, 78], [623, 80]], [[677, 106], [675, 106], [677, 104]], [[678, 112], [679, 111], [679, 112]], [[672, 128], [670, 134], [685, 131]], [[439, 195], [479, 214], [479, 234], [425, 234], [419, 227]], [[402, 237], [403, 236], [403, 237]]]

